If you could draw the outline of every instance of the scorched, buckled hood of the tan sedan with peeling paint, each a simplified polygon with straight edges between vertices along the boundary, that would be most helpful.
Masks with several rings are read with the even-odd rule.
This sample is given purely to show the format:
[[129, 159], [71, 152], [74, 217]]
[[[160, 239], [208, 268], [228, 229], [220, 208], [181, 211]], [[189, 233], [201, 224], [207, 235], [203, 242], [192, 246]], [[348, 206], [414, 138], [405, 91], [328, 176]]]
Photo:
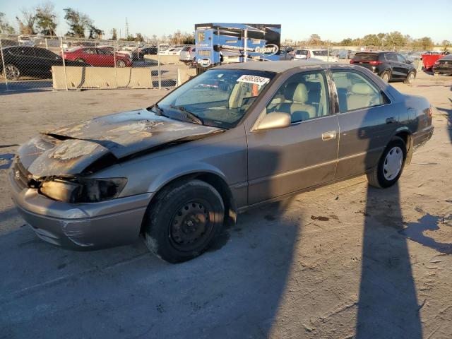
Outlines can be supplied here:
[[22, 145], [18, 157], [35, 177], [79, 174], [108, 153], [121, 160], [167, 143], [196, 140], [220, 131], [224, 130], [140, 109], [42, 133]]

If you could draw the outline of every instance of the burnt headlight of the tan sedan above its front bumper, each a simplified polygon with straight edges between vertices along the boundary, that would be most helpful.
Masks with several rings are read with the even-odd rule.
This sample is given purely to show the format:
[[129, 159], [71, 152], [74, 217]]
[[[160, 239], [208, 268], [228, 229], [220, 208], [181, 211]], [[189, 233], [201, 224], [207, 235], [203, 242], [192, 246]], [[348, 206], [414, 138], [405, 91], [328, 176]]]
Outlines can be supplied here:
[[97, 203], [116, 198], [126, 186], [126, 178], [52, 178], [40, 184], [40, 193], [66, 203]]

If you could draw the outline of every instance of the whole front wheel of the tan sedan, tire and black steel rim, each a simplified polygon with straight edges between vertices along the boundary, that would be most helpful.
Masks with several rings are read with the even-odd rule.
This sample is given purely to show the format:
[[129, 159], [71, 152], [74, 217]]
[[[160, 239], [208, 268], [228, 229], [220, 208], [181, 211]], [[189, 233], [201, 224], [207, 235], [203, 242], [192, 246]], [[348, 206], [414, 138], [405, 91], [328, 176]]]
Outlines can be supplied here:
[[201, 180], [174, 182], [150, 203], [144, 220], [148, 249], [169, 263], [202, 254], [221, 233], [225, 206], [218, 191]]

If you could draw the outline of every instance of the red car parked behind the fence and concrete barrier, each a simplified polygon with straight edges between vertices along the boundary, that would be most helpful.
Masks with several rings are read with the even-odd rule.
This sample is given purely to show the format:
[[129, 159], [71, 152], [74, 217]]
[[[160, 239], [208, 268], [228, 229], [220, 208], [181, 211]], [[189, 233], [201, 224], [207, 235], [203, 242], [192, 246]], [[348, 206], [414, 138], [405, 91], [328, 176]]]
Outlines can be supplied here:
[[64, 52], [64, 59], [85, 62], [91, 66], [117, 67], [132, 66], [132, 61], [124, 54], [116, 53], [103, 47], [73, 47]]

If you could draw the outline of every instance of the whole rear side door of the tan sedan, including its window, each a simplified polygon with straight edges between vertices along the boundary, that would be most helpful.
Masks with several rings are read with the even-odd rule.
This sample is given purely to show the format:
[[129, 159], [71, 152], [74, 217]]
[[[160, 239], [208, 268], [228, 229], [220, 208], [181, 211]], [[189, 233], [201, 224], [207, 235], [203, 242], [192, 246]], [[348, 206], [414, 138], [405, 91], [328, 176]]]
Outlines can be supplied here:
[[335, 179], [374, 167], [398, 127], [388, 95], [364, 72], [332, 69], [338, 93], [340, 127]]

